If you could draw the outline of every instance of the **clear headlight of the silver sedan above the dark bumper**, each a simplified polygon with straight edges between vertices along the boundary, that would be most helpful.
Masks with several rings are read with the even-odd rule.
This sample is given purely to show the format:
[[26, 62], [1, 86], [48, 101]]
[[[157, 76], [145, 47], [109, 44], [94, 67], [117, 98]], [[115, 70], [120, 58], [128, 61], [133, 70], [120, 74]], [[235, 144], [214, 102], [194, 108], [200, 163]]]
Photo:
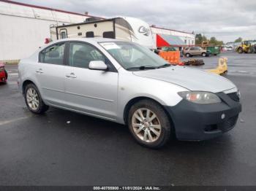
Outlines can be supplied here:
[[191, 101], [196, 104], [217, 104], [222, 102], [217, 95], [210, 92], [185, 91], [179, 92], [178, 95], [180, 95], [181, 98], [184, 98], [187, 101]]

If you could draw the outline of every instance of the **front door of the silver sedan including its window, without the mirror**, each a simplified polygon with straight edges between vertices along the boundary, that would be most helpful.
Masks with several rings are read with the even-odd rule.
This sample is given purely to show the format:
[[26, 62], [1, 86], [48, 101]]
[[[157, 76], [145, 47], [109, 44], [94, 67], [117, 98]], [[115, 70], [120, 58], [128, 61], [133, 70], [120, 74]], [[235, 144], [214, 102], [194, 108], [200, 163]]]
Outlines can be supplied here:
[[[65, 72], [69, 108], [98, 117], [116, 119], [118, 73], [108, 58], [85, 42], [69, 42]], [[90, 61], [104, 61], [108, 71], [89, 69]]]

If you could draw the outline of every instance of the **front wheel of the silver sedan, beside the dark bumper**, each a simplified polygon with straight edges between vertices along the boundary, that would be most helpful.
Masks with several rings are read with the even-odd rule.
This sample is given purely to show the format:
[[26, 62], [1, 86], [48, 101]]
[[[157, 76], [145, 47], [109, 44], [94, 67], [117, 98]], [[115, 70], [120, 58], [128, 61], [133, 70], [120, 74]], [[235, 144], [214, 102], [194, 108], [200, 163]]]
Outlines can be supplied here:
[[170, 120], [154, 101], [135, 103], [129, 110], [128, 125], [134, 139], [145, 147], [158, 149], [170, 140]]

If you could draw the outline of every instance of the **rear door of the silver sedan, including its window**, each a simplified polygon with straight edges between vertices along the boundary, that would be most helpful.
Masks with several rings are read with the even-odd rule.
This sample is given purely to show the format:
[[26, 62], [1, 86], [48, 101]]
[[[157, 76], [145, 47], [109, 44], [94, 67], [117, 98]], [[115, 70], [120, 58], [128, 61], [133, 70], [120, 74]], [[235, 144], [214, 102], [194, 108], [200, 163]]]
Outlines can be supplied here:
[[45, 48], [39, 53], [35, 68], [42, 98], [53, 105], [60, 105], [64, 101], [64, 51], [65, 42]]

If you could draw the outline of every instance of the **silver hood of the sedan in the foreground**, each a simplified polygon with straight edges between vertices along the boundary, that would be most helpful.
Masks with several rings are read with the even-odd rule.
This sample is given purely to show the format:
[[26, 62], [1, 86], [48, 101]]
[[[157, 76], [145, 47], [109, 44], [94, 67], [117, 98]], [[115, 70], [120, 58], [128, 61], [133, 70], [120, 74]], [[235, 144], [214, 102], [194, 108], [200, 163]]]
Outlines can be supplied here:
[[185, 66], [170, 66], [162, 69], [134, 71], [139, 77], [148, 77], [170, 82], [192, 91], [218, 93], [236, 87], [233, 82], [217, 74]]

